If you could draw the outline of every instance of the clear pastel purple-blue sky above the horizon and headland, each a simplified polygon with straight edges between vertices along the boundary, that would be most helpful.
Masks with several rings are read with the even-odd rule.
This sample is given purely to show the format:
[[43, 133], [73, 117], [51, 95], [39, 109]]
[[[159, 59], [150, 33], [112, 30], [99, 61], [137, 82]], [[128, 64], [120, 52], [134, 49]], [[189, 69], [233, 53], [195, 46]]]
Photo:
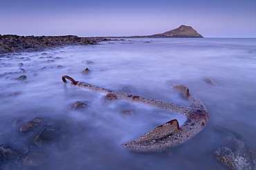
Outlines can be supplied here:
[[256, 0], [1, 0], [0, 34], [131, 36], [190, 25], [256, 38]]

